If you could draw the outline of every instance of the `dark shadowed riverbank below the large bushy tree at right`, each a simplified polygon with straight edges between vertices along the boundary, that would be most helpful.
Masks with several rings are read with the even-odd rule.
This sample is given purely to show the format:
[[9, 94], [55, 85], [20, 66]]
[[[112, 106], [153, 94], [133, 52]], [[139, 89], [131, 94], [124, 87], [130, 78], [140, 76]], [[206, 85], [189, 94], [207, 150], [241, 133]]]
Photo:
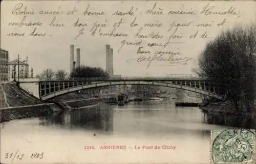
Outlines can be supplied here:
[[255, 112], [236, 112], [225, 103], [215, 102], [200, 107], [207, 123], [256, 129]]

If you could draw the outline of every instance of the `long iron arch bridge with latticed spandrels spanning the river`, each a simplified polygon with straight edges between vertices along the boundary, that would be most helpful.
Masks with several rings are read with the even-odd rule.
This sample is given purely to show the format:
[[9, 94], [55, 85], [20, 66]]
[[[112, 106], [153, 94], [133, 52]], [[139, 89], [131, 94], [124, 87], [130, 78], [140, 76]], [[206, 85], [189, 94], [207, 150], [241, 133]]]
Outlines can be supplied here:
[[207, 80], [177, 80], [177, 79], [110, 79], [110, 80], [69, 80], [69, 81], [39, 81], [39, 97], [48, 100], [60, 95], [79, 90], [115, 86], [115, 85], [152, 85], [191, 91], [216, 99], [223, 99], [220, 90]]

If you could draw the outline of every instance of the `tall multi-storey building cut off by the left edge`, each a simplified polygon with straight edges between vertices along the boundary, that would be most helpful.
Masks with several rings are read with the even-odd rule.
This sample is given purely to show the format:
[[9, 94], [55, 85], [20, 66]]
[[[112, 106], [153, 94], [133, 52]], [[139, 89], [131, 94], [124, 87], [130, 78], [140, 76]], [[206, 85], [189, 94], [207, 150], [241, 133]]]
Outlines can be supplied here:
[[9, 80], [9, 52], [1, 49], [0, 55], [0, 81]]

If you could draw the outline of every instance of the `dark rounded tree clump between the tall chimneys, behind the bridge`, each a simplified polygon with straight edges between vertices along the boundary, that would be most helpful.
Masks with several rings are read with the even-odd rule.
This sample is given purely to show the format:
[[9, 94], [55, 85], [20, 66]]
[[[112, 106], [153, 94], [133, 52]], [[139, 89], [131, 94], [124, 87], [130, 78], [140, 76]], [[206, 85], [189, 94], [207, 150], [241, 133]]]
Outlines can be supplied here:
[[75, 68], [70, 77], [73, 78], [103, 78], [108, 79], [109, 74], [99, 67], [80, 66]]

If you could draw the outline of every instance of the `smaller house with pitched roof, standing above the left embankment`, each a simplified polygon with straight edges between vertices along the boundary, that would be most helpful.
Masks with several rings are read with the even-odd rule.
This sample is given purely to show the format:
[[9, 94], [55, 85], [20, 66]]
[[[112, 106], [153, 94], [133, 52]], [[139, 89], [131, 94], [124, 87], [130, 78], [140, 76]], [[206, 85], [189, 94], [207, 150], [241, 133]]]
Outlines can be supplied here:
[[24, 61], [18, 61], [17, 59], [14, 61], [11, 61], [9, 63], [9, 67], [10, 67], [10, 79], [13, 80], [14, 78], [29, 78], [29, 65], [28, 62], [26, 62], [26, 60]]

